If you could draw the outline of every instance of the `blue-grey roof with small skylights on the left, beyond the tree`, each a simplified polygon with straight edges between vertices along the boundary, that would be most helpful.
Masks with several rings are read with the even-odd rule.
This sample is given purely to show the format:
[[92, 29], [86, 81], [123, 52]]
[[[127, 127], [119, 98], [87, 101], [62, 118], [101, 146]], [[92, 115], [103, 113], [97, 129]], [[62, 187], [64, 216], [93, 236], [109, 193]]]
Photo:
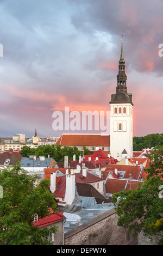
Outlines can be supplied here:
[[36, 160], [30, 159], [28, 157], [23, 157], [21, 160], [22, 167], [48, 167], [51, 162], [51, 158], [45, 158], [44, 161], [40, 160], [40, 158], [36, 158]]

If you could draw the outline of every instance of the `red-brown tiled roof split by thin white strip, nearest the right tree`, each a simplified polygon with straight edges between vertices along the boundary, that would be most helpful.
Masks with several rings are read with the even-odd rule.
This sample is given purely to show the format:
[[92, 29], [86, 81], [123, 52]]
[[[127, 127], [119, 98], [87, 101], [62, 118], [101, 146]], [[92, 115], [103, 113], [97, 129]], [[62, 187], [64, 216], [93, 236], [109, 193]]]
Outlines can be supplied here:
[[106, 193], [114, 194], [122, 191], [124, 188], [126, 190], [135, 190], [140, 182], [138, 180], [108, 179], [105, 183], [105, 191]]

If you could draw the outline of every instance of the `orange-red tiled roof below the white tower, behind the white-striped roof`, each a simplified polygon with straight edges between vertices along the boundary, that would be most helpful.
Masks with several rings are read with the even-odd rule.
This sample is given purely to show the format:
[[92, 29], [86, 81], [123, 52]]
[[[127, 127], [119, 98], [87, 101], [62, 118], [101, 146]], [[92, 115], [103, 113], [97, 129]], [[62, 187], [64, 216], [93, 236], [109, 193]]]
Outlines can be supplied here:
[[[110, 169], [117, 169], [118, 171], [123, 171], [126, 172], [123, 176], [123, 178], [129, 179], [140, 179], [140, 173], [141, 173], [141, 168], [140, 166], [126, 166], [124, 164], [108, 164], [106, 167], [105, 171], [109, 171]], [[131, 174], [131, 176], [130, 176]]]

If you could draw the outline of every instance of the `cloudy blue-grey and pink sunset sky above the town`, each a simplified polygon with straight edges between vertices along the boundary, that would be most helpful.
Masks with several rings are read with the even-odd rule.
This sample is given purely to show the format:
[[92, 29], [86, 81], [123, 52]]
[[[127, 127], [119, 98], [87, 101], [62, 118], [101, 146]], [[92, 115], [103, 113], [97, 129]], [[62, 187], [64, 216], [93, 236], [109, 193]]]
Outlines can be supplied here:
[[58, 137], [65, 107], [110, 111], [122, 34], [133, 136], [162, 133], [162, 11], [161, 0], [0, 0], [0, 137]]

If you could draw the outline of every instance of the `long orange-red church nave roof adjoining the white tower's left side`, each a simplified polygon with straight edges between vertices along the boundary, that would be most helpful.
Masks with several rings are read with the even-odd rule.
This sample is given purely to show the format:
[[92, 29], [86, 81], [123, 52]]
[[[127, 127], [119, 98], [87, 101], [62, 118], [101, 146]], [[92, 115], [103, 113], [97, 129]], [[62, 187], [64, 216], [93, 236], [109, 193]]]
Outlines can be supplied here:
[[74, 135], [74, 134], [63, 134], [60, 136], [55, 145], [62, 146], [110, 146], [110, 135], [101, 136], [99, 135]]

